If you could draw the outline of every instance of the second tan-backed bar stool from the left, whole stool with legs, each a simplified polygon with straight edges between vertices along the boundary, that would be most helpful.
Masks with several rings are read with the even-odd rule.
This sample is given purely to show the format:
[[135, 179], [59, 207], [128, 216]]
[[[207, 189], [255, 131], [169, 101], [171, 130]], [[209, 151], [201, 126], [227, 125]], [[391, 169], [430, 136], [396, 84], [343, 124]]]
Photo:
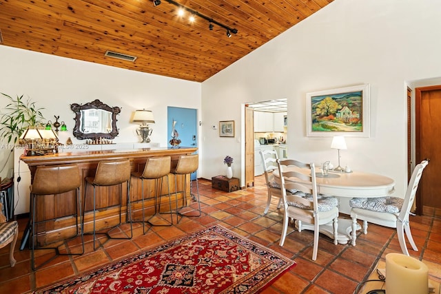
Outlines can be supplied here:
[[[130, 160], [102, 160], [98, 162], [98, 167], [96, 167], [95, 176], [93, 177], [86, 177], [84, 179], [84, 194], [85, 197], [87, 197], [87, 187], [88, 184], [92, 185], [94, 187], [94, 198], [93, 198], [93, 211], [94, 211], [94, 229], [92, 232], [92, 235], [94, 235], [94, 250], [96, 250], [95, 246], [95, 240], [96, 235], [107, 235], [107, 237], [110, 239], [132, 239], [133, 236], [133, 229], [132, 229], [132, 220], [130, 217]], [[121, 230], [125, 237], [115, 237], [111, 236], [110, 232], [116, 228], [118, 228], [122, 222], [121, 222], [121, 207], [122, 207], [122, 189], [123, 189], [123, 183], [127, 183], [127, 222], [130, 223], [130, 236], [125, 233], [125, 231]], [[100, 209], [108, 208], [108, 207], [114, 207], [119, 206], [119, 224], [116, 224], [116, 226], [111, 228], [105, 228], [108, 229], [105, 233], [96, 233], [96, 187], [108, 187], [108, 186], [115, 186], [119, 185], [119, 204], [113, 204], [107, 207], [100, 207]], [[101, 200], [101, 199], [100, 199]], [[84, 201], [85, 205], [85, 201]], [[85, 207], [83, 209], [85, 211]], [[83, 217], [84, 222], [84, 217]], [[90, 234], [90, 233], [88, 233]], [[107, 240], [107, 241], [108, 241]], [[106, 242], [107, 242], [106, 241]], [[104, 243], [103, 243], [104, 244]]]

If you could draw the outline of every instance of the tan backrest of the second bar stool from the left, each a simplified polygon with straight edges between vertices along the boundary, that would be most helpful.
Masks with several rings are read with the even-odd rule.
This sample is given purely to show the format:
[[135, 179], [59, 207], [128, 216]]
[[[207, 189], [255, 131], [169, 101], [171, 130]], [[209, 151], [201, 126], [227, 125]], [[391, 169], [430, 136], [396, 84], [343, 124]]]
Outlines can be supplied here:
[[130, 180], [130, 160], [102, 160], [98, 162], [92, 185], [113, 186]]

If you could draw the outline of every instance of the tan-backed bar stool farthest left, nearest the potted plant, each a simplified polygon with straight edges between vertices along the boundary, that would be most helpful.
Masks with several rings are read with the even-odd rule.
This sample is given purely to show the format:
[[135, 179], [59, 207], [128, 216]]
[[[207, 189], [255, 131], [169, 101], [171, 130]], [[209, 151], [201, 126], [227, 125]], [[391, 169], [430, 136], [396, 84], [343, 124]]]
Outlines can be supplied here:
[[[81, 220], [81, 193], [80, 193], [80, 186], [81, 186], [81, 178], [79, 174], [79, 167], [78, 165], [54, 165], [54, 166], [39, 166], [35, 170], [34, 174], [34, 180], [32, 182], [32, 185], [30, 187], [30, 196], [31, 196], [31, 265], [32, 269], [39, 269], [44, 264], [47, 264], [54, 258], [57, 258], [57, 255], [81, 255], [84, 253], [84, 239], [83, 239], [83, 221]], [[55, 247], [46, 247], [46, 246], [37, 246], [37, 238], [39, 236], [39, 226], [40, 224], [45, 224], [46, 222], [57, 220], [58, 218], [61, 218], [61, 216], [57, 216], [55, 218], [45, 219], [45, 220], [37, 220], [37, 215], [39, 215], [39, 211], [37, 209], [37, 202], [39, 202], [38, 198], [44, 197], [44, 196], [51, 196], [54, 194], [62, 194], [69, 191], [74, 191], [75, 201], [74, 201], [74, 213], [68, 215], [68, 216], [75, 216], [75, 222], [76, 222], [76, 234], [72, 237], [75, 238], [78, 235], [78, 224], [80, 224], [80, 234], [81, 234], [81, 246], [82, 250], [80, 253], [72, 253], [70, 252], [70, 249], [68, 248], [68, 245], [66, 244], [66, 251], [68, 253], [60, 253], [59, 246]], [[67, 197], [67, 196], [63, 196]], [[42, 203], [40, 201], [40, 203]], [[56, 203], [56, 202], [54, 202]], [[54, 204], [55, 206], [56, 204]], [[56, 209], [54, 207], [55, 211], [58, 211], [59, 209]], [[65, 216], [62, 216], [63, 218]], [[80, 221], [78, 221], [78, 218], [80, 218]], [[68, 240], [71, 240], [72, 238], [65, 239], [63, 241], [67, 242]], [[39, 266], [35, 266], [34, 261], [34, 250], [36, 249], [54, 249], [55, 255], [52, 256], [49, 260], [46, 260]]]

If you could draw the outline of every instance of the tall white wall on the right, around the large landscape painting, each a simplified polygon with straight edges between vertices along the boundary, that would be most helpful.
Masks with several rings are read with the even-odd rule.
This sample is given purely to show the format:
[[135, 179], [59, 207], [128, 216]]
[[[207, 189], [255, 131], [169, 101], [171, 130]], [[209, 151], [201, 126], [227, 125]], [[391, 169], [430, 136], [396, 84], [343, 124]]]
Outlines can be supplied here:
[[[336, 163], [331, 138], [306, 136], [306, 94], [369, 83], [371, 136], [347, 138], [342, 165], [407, 182], [406, 87], [441, 76], [441, 1], [336, 0], [202, 84], [205, 178], [243, 169], [241, 105], [288, 98], [289, 157]], [[240, 30], [240, 28], [238, 28]], [[236, 121], [236, 138], [219, 138], [209, 125]], [[240, 178], [244, 180], [243, 174]], [[243, 184], [243, 183], [242, 183]]]

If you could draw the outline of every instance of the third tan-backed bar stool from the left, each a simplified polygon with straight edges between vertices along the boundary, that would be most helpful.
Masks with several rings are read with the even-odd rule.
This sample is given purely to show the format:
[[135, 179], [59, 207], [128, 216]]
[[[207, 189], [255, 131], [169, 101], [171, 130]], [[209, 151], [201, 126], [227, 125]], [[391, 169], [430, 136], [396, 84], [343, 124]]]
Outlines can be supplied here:
[[[172, 158], [170, 156], [161, 157], [150, 157], [147, 158], [145, 162], [144, 171], [141, 173], [139, 171], [132, 172], [132, 176], [141, 179], [141, 203], [143, 209], [143, 233], [145, 234], [145, 222], [150, 223], [152, 226], [171, 226], [173, 224], [173, 211], [172, 211], [172, 198], [170, 196], [170, 185], [168, 180], [168, 175], [170, 174], [170, 166], [172, 165]], [[162, 194], [163, 191], [163, 180], [164, 177], [167, 179], [167, 194]], [[154, 214], [145, 220], [144, 211], [144, 180], [154, 180]], [[161, 185], [158, 185], [159, 180], [161, 180]], [[161, 214], [161, 197], [168, 196], [168, 202], [170, 205], [170, 220], [160, 216]], [[148, 199], [148, 198], [147, 198]], [[139, 201], [139, 200], [138, 200]], [[137, 201], [132, 201], [137, 202]], [[132, 204], [131, 202], [131, 204]], [[154, 221], [154, 218], [156, 220]]]

